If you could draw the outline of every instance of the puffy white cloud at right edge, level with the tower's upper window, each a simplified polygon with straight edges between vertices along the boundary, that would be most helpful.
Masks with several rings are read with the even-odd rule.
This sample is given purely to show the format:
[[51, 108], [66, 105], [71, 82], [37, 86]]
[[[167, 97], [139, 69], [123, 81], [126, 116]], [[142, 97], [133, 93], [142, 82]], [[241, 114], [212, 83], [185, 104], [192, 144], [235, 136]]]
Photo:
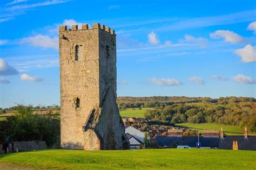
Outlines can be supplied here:
[[243, 62], [256, 61], [256, 46], [248, 44], [244, 48], [235, 50], [234, 53], [239, 55]]

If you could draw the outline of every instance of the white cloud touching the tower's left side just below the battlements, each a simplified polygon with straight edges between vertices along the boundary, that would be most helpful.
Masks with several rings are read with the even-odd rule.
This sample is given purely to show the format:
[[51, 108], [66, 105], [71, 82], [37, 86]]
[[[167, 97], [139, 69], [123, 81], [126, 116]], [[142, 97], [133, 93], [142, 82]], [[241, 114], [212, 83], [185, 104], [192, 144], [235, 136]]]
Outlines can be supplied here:
[[19, 42], [21, 44], [28, 43], [32, 46], [37, 46], [37, 47], [58, 49], [57, 37], [50, 38], [49, 36], [44, 36], [42, 34], [38, 34], [37, 36], [34, 36], [34, 37], [22, 38]]

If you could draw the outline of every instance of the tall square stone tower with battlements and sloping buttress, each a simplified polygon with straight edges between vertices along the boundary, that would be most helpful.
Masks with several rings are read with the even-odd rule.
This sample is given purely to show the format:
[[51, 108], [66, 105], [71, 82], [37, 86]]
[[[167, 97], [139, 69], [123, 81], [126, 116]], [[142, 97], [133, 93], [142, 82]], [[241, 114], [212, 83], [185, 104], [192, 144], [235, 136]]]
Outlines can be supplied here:
[[63, 148], [128, 149], [116, 103], [116, 34], [87, 24], [59, 27], [60, 129]]

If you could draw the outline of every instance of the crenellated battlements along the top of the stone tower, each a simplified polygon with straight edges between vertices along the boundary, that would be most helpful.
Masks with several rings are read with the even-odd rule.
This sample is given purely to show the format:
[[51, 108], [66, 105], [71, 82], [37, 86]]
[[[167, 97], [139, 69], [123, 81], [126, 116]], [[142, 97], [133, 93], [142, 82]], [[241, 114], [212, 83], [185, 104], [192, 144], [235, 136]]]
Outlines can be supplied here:
[[[83, 24], [81, 30], [91, 30], [91, 29], [100, 29], [100, 30], [104, 30], [106, 32], [109, 32], [110, 34], [115, 35], [114, 30], [110, 29], [110, 27], [107, 27], [105, 25], [100, 25], [99, 23], [93, 23], [92, 28], [89, 28], [88, 24]], [[78, 25], [72, 25], [72, 29], [68, 29], [68, 27], [66, 25], [63, 25], [63, 26], [59, 27], [59, 32], [77, 31], [77, 30], [79, 30]]]

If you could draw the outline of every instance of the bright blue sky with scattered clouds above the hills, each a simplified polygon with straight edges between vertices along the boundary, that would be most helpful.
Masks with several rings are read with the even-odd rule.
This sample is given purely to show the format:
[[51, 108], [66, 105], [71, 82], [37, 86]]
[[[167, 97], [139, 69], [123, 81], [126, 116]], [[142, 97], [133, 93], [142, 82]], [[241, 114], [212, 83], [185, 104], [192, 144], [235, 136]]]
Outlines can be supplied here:
[[256, 97], [255, 1], [0, 2], [0, 107], [59, 104], [58, 27], [117, 34], [118, 96]]

